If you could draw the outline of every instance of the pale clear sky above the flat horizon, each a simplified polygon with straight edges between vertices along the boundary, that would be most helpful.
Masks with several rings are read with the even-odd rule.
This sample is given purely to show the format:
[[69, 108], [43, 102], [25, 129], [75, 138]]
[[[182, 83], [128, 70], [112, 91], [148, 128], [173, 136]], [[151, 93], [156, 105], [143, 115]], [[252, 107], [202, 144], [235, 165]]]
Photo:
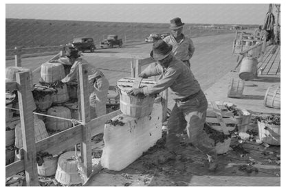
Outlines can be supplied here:
[[73, 21], [263, 24], [269, 4], [6, 4], [5, 17]]

